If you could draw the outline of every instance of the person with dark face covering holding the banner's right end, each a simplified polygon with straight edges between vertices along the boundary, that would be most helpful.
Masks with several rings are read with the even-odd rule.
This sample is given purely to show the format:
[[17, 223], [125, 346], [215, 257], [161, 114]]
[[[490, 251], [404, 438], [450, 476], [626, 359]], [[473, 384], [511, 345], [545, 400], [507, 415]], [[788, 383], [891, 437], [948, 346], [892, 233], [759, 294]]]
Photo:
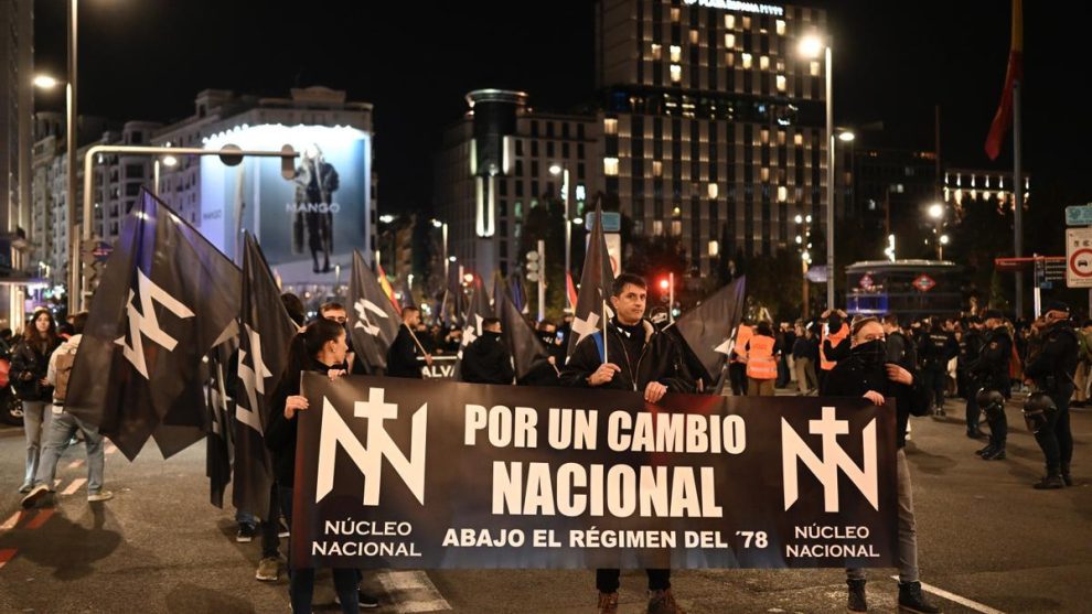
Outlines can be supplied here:
[[[821, 387], [824, 397], [865, 397], [874, 405], [896, 401], [899, 476], [899, 608], [932, 614], [940, 608], [925, 601], [918, 575], [918, 535], [913, 516], [910, 467], [904, 452], [910, 416], [929, 413], [929, 391], [903, 367], [887, 362], [884, 327], [875, 317], [858, 319], [850, 326], [849, 357], [831, 369]], [[847, 569], [848, 611], [867, 612], [863, 569]]]

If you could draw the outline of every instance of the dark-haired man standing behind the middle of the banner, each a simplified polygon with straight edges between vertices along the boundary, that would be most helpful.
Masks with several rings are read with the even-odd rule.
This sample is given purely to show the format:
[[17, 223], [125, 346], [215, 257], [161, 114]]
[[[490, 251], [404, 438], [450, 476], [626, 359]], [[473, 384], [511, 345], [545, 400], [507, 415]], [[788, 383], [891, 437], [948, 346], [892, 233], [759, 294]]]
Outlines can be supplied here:
[[[644, 279], [622, 273], [611, 287], [614, 317], [603, 331], [580, 340], [561, 370], [561, 386], [610, 388], [644, 394], [646, 402], [657, 402], [668, 391], [693, 392], [681, 365], [678, 346], [651, 322], [644, 320], [647, 286]], [[671, 570], [649, 569], [649, 614], [683, 614], [671, 592]], [[596, 570], [599, 613], [618, 612], [620, 572]]]

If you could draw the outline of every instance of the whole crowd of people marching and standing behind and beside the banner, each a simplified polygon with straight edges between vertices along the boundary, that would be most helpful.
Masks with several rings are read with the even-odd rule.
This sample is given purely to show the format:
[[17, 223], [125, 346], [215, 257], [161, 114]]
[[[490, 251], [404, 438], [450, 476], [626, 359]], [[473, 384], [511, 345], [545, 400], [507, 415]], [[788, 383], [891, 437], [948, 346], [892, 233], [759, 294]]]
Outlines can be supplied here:
[[[582, 337], [567, 360], [571, 321], [560, 326], [536, 323], [536, 335], [548, 356], [518, 383], [502, 342], [500, 320], [483, 319], [477, 338], [462, 345], [460, 330], [428, 327], [419, 310], [405, 308], [403, 325], [386, 356], [385, 375], [420, 378], [422, 364], [461, 352], [458, 376], [468, 383], [632, 390], [649, 402], [660, 401], [667, 392], [717, 392], [710, 386], [714, 378], [695, 364], [693, 352], [672, 331], [666, 312], [656, 309], [645, 316], [647, 291], [642, 278], [622, 273], [611, 294], [614, 316], [603, 331]], [[238, 541], [251, 541], [260, 532], [263, 552], [256, 572], [260, 581], [279, 578], [279, 542], [287, 530], [282, 519], [291, 526], [296, 418], [308, 410], [307, 398], [300, 396], [300, 374], [319, 371], [335, 378], [364, 368], [350, 347], [343, 305], [323, 304], [318, 316], [306, 322], [297, 297], [286, 293], [281, 299], [301, 332], [293, 340], [288, 369], [270, 397], [265, 428], [276, 485], [267, 517], [256, 518], [247, 510], [236, 516]], [[13, 344], [0, 343], [0, 351], [10, 356], [10, 378], [24, 410], [26, 466], [20, 492], [25, 494], [25, 507], [50, 495], [57, 460], [77, 439], [87, 448], [88, 500], [113, 496], [103, 489], [103, 437], [64, 411], [68, 373], [85, 322], [86, 313], [79, 313], [58, 326], [43, 310]], [[910, 471], [903, 451], [910, 439], [909, 417], [945, 416], [955, 399], [962, 398], [966, 437], [984, 437], [979, 416], [985, 416], [988, 443], [976, 453], [986, 461], [1003, 461], [1008, 431], [1005, 401], [1014, 392], [1026, 391], [1024, 417], [1046, 461], [1046, 475], [1035, 487], [1062, 488], [1072, 485], [1069, 408], [1089, 401], [1090, 366], [1092, 321], [1074, 328], [1069, 308], [1062, 303], [1049, 305], [1034, 322], [1015, 324], [996, 310], [916, 322], [890, 315], [850, 319], [835, 310], [777, 327], [770, 321], [745, 320], [736, 332], [727, 380], [732, 395], [771, 396], [778, 388], [794, 387], [800, 395], [866, 397], [877, 406], [889, 398], [897, 400], [899, 605], [909, 612], [933, 613], [940, 610], [925, 600], [918, 575]], [[361, 579], [355, 569], [333, 570], [343, 613], [378, 606], [377, 599], [360, 589]], [[867, 611], [865, 584], [864, 570], [847, 570], [850, 612]], [[596, 586], [598, 612], [618, 612], [619, 570], [597, 570]], [[650, 613], [683, 612], [671, 590], [670, 570], [647, 570], [647, 589]], [[313, 590], [314, 570], [289, 572], [295, 612], [311, 611]]]

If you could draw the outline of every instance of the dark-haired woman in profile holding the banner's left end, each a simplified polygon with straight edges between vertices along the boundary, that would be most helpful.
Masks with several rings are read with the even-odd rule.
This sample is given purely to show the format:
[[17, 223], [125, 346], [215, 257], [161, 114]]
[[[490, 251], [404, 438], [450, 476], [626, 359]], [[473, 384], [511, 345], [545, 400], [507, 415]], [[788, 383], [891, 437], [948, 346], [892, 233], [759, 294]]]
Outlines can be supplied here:
[[[293, 356], [272, 396], [269, 422], [266, 424], [266, 446], [272, 455], [274, 473], [280, 491], [281, 509], [289, 527], [292, 525], [292, 485], [296, 471], [297, 414], [307, 411], [307, 397], [300, 396], [300, 375], [304, 370], [328, 374], [334, 379], [345, 374], [345, 327], [330, 320], [314, 320], [303, 332], [306, 356]], [[289, 550], [289, 559], [292, 552]], [[289, 595], [292, 612], [310, 614], [314, 594], [314, 569], [292, 570], [289, 564]], [[333, 570], [334, 590], [342, 614], [358, 614], [364, 607], [377, 607], [378, 602], [357, 593], [360, 572], [355, 569]]]

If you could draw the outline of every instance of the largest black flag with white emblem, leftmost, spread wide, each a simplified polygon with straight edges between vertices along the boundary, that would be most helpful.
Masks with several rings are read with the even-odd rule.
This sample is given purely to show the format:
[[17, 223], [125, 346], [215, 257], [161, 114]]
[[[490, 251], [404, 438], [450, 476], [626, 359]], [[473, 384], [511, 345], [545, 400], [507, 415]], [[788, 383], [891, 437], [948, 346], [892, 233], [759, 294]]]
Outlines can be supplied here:
[[142, 192], [126, 219], [72, 370], [65, 409], [132, 460], [154, 437], [164, 457], [201, 440], [201, 362], [235, 335], [239, 269]]

